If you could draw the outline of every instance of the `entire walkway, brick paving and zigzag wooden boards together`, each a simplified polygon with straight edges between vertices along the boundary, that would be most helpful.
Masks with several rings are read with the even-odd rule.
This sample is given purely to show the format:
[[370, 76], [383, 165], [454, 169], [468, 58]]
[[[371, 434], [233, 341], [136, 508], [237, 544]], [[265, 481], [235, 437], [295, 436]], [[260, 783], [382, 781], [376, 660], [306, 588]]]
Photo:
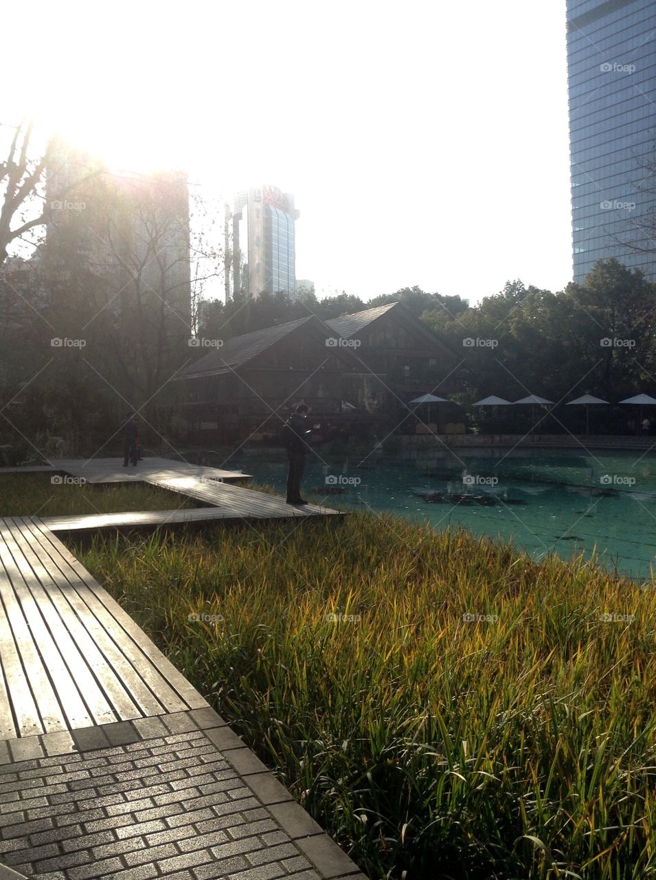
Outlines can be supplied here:
[[0, 878], [367, 880], [54, 534], [309, 506], [143, 470], [221, 506], [0, 518]]

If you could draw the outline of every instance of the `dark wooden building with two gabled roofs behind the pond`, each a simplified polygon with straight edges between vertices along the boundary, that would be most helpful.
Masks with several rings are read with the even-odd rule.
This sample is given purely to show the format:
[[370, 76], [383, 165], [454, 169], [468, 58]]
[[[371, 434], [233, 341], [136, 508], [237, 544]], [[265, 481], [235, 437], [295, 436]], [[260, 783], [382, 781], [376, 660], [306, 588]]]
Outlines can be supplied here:
[[326, 437], [383, 436], [408, 419], [410, 400], [456, 387], [456, 355], [398, 303], [219, 343], [186, 370], [189, 439], [200, 444], [276, 438], [301, 401]]

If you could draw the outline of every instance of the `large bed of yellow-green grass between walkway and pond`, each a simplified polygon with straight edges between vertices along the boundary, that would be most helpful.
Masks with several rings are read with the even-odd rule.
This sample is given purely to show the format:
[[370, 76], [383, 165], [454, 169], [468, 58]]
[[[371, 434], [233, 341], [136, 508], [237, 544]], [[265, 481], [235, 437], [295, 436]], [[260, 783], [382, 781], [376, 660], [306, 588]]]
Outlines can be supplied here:
[[368, 876], [656, 876], [653, 590], [367, 514], [77, 552]]

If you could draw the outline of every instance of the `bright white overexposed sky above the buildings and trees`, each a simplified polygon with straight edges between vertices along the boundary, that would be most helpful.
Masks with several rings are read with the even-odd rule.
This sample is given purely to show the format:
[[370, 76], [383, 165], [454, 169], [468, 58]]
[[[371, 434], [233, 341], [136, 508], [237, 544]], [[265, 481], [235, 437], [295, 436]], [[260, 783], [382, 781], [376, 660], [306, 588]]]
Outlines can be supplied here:
[[[37, 0], [3, 13], [0, 122], [231, 199], [295, 194], [319, 296], [571, 280], [565, 0]], [[9, 45], [8, 45], [9, 44]], [[11, 71], [11, 72], [10, 72]]]

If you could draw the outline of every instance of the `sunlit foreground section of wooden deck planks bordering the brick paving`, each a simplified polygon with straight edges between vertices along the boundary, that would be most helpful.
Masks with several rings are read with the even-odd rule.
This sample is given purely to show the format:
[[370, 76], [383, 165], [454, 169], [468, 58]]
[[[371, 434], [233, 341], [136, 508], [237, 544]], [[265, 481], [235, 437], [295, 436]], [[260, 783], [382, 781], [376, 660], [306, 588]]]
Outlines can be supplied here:
[[0, 739], [207, 706], [38, 519], [0, 519]]

